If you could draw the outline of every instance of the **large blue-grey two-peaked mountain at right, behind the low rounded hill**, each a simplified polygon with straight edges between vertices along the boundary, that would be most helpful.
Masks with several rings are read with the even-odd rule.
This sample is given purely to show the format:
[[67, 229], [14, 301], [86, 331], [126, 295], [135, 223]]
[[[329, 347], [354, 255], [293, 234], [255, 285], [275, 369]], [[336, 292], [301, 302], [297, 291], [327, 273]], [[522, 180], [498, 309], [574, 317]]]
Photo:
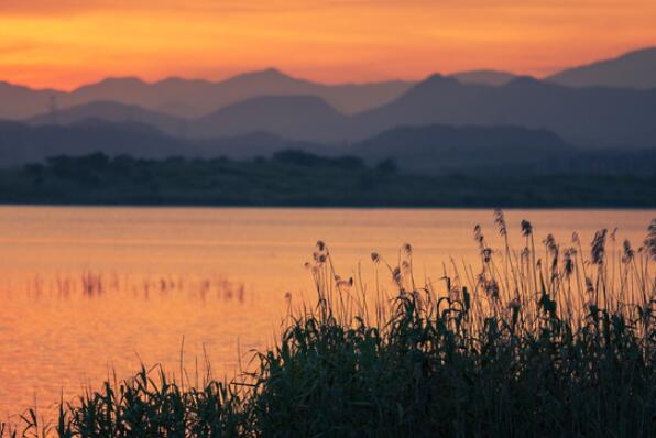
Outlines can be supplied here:
[[350, 140], [434, 123], [546, 129], [582, 147], [656, 146], [656, 89], [568, 88], [520, 77], [491, 87], [434, 75], [350, 120]]

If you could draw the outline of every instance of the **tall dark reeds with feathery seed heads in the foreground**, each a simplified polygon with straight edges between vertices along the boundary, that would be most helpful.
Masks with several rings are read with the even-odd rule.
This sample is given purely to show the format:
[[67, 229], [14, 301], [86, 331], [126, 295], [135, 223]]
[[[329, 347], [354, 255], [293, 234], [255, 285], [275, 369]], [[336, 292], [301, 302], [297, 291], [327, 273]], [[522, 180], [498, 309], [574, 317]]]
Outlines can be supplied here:
[[[480, 266], [418, 285], [413, 248], [372, 254], [375, 291], [345, 280], [317, 243], [314, 306], [291, 307], [277, 344], [232, 382], [161, 369], [106, 382], [42, 426], [2, 436], [636, 437], [656, 434], [656, 220], [639, 249], [599, 231], [502, 248], [474, 229]], [[395, 285], [385, 294], [389, 277]]]

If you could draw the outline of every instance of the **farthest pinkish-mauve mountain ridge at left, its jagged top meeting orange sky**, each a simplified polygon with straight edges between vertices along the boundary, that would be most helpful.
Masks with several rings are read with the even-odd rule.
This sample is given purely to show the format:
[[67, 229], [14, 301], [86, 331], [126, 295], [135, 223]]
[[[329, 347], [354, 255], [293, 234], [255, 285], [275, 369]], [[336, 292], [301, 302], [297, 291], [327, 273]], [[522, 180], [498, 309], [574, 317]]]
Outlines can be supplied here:
[[66, 109], [92, 101], [116, 101], [168, 116], [198, 118], [254, 97], [278, 95], [316, 96], [340, 112], [354, 113], [387, 103], [413, 85], [404, 80], [325, 85], [293, 78], [274, 68], [221, 81], [167, 78], [150, 84], [135, 77], [107, 78], [70, 92], [0, 83], [0, 118], [21, 120], [47, 111], [52, 103]]

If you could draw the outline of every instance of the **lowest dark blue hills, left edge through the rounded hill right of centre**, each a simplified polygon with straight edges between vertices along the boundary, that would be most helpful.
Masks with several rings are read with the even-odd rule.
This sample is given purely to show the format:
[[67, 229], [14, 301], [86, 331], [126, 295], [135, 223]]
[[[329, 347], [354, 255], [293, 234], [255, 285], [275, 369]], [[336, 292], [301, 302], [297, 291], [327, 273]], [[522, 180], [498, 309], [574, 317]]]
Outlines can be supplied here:
[[354, 155], [372, 165], [393, 158], [402, 168], [419, 173], [468, 171], [502, 162], [511, 165], [537, 164], [576, 152], [571, 145], [547, 131], [513, 127], [395, 128], [362, 142], [330, 146], [289, 141], [261, 132], [205, 140], [181, 139], [141, 123], [90, 119], [69, 125], [42, 127], [0, 122], [0, 165], [4, 166], [97, 151], [110, 156], [124, 154], [141, 158], [249, 158], [271, 156], [282, 150], [303, 150], [325, 156]]

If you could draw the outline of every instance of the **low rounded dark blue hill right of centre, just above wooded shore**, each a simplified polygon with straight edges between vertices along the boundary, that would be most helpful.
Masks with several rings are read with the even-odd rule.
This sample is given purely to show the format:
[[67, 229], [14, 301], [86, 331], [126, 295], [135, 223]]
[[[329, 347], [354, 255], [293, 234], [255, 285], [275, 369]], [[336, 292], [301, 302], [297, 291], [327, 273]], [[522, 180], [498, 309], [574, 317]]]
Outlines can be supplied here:
[[401, 127], [354, 144], [349, 152], [370, 162], [387, 157], [420, 173], [536, 165], [566, 158], [575, 149], [545, 130], [516, 127]]

